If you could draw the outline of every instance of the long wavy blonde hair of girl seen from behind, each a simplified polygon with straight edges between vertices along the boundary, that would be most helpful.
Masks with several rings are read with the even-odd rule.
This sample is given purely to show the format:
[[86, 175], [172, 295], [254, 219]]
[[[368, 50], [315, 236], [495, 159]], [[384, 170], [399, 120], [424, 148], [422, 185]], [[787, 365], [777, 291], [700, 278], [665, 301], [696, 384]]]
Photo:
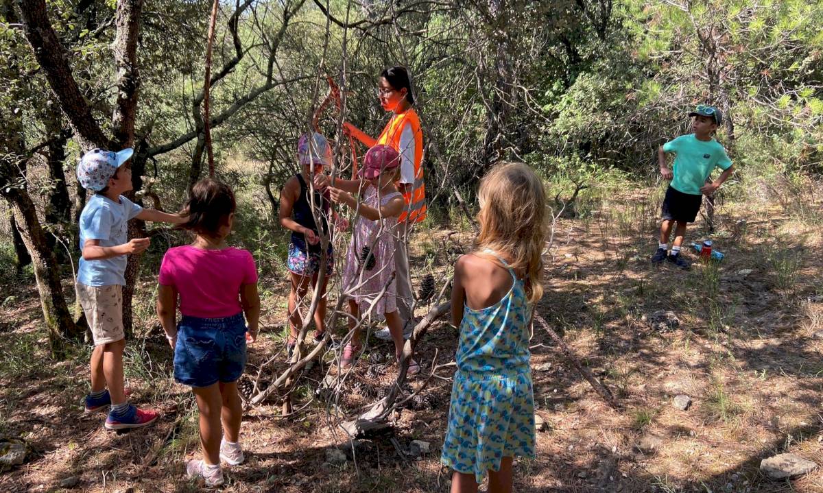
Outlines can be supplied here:
[[542, 252], [548, 232], [542, 180], [528, 165], [500, 163], [481, 180], [478, 198], [476, 254], [500, 264], [483, 250], [503, 253], [509, 267], [526, 272], [528, 302], [537, 302], [543, 295]]

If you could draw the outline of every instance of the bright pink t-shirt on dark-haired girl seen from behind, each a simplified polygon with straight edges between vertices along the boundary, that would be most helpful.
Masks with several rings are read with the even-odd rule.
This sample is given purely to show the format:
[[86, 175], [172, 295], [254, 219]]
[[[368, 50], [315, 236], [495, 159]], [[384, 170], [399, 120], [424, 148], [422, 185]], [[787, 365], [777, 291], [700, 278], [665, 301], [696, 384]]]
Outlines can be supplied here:
[[257, 267], [247, 250], [196, 249], [184, 245], [169, 249], [160, 264], [160, 284], [174, 286], [180, 295], [180, 313], [201, 319], [239, 314], [240, 286], [257, 284]]

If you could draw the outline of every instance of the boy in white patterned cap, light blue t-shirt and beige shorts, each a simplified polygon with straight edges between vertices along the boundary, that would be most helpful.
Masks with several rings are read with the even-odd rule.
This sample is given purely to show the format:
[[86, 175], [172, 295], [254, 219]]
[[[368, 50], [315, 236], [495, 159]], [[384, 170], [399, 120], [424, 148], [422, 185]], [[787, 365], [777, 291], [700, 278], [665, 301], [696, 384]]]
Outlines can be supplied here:
[[128, 403], [123, 388], [123, 286], [126, 255], [142, 253], [148, 238], [128, 240], [127, 223], [143, 221], [180, 224], [184, 217], [143, 209], [123, 197], [132, 189], [127, 161], [132, 149], [114, 152], [92, 149], [77, 165], [77, 181], [94, 192], [80, 216], [82, 257], [77, 271], [77, 296], [91, 328], [95, 349], [91, 353], [91, 393], [86, 412], [109, 409], [108, 430], [139, 428], [157, 419], [157, 412]]

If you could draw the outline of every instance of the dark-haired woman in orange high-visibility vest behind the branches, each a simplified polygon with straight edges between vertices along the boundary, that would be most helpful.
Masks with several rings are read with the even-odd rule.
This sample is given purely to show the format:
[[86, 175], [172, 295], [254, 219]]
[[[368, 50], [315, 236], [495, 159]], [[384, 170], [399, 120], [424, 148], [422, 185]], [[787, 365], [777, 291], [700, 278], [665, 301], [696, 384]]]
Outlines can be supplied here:
[[[348, 122], [343, 123], [350, 133], [366, 147], [384, 144], [394, 147], [400, 154], [400, 181], [398, 190], [406, 199], [406, 209], [398, 218], [400, 231], [394, 258], [397, 263], [398, 309], [406, 331], [412, 314], [412, 283], [408, 272], [407, 231], [425, 219], [425, 181], [423, 180], [423, 132], [420, 119], [412, 105], [412, 81], [406, 67], [391, 67], [380, 73], [377, 95], [383, 109], [392, 113], [383, 132], [376, 139]], [[378, 333], [378, 337], [380, 337]], [[388, 335], [388, 331], [387, 334]]]

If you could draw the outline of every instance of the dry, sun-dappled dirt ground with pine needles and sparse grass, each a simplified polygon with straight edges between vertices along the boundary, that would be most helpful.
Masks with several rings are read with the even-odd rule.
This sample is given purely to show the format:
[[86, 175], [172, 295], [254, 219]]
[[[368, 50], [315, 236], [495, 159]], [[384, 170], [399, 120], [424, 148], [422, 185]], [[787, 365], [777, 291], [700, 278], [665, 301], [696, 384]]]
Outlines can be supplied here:
[[[546, 430], [537, 433], [537, 458], [516, 462], [514, 491], [823, 492], [821, 468], [782, 482], [759, 471], [762, 458], [783, 452], [823, 465], [823, 338], [816, 337], [823, 240], [815, 222], [774, 204], [720, 207], [712, 238], [726, 258], [684, 272], [649, 264], [653, 200], [604, 203], [553, 228], [538, 312], [621, 409], [599, 398], [536, 326], [535, 403]], [[438, 287], [448, 278], [472, 239], [455, 231], [418, 232], [417, 282], [425, 273]], [[701, 220], [687, 241], [704, 237]], [[139, 290], [142, 330], [128, 342], [127, 387], [133, 402], [162, 417], [127, 433], [107, 432], [104, 415], [83, 413], [90, 349], [74, 344], [67, 360], [50, 360], [34, 286], [2, 287], [0, 435], [26, 440], [29, 453], [24, 465], [0, 473], [0, 491], [69, 491], [65, 480], [77, 483], [72, 491], [200, 490], [184, 479], [184, 458], [198, 454], [196, 409], [188, 388], [171, 379], [171, 354], [151, 314], [150, 274]], [[265, 381], [285, 368], [286, 281], [265, 277], [261, 291], [263, 336], [250, 347], [249, 373], [280, 355], [264, 369]], [[382, 395], [397, 369], [384, 362], [392, 350], [372, 338], [346, 390], [332, 398], [316, 392], [333, 359], [327, 355], [300, 376], [290, 416], [281, 416], [276, 397], [248, 410], [247, 462], [226, 469], [221, 491], [449, 491], [439, 449], [457, 335], [444, 323], [430, 330], [416, 359], [422, 374], [436, 362], [435, 377], [412, 379], [412, 390], [427, 382], [421, 397], [395, 414], [391, 430], [356, 444], [336, 427], [337, 416]], [[686, 411], [672, 406], [678, 394], [691, 398]], [[412, 440], [429, 442], [430, 452], [407, 455]], [[327, 461], [337, 446], [347, 454], [340, 465]]]

